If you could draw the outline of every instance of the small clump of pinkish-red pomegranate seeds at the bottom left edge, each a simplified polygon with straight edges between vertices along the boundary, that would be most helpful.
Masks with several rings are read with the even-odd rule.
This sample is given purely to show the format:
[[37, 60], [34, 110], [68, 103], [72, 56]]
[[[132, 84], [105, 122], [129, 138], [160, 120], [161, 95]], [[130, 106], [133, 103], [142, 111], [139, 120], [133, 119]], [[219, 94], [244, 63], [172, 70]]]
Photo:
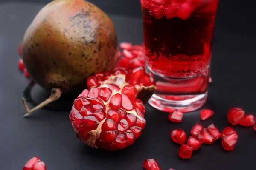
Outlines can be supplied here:
[[40, 161], [37, 156], [35, 156], [27, 161], [23, 170], [46, 170], [46, 165], [44, 162]]

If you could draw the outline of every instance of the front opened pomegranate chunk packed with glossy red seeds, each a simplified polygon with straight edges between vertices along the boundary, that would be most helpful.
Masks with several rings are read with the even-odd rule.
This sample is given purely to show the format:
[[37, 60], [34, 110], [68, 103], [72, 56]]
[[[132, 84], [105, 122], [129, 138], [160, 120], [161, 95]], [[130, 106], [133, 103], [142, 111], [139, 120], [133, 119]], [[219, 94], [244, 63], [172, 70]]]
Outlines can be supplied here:
[[[111, 89], [112, 88], [112, 89]], [[145, 128], [145, 106], [122, 89], [91, 88], [74, 101], [70, 121], [76, 136], [93, 148], [115, 151], [134, 143]]]

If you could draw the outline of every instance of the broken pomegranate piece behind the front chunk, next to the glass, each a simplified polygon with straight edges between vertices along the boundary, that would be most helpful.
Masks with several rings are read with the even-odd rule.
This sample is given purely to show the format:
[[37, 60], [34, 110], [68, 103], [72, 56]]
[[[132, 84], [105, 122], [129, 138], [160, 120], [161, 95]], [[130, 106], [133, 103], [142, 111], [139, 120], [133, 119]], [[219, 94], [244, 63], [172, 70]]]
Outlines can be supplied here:
[[130, 90], [128, 90], [127, 85], [134, 86], [138, 92], [137, 98], [144, 103], [148, 102], [148, 99], [152, 96], [156, 88], [154, 79], [145, 72], [143, 66], [134, 68], [131, 71], [127, 71], [124, 68], [116, 68], [113, 72], [97, 73], [87, 79], [88, 88], [116, 85], [118, 86], [116, 87], [117, 91], [126, 86], [126, 91], [130, 91], [132, 93], [131, 96], [134, 96], [134, 88], [130, 86]]

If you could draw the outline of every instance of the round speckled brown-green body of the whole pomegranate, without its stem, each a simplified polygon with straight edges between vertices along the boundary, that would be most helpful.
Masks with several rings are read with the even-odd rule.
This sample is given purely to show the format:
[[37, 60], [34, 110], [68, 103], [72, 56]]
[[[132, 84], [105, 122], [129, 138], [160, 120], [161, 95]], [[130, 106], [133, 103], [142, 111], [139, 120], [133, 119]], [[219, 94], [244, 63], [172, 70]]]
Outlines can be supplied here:
[[28, 73], [45, 89], [81, 91], [86, 79], [113, 71], [118, 43], [111, 19], [85, 0], [55, 0], [27, 28], [22, 57]]

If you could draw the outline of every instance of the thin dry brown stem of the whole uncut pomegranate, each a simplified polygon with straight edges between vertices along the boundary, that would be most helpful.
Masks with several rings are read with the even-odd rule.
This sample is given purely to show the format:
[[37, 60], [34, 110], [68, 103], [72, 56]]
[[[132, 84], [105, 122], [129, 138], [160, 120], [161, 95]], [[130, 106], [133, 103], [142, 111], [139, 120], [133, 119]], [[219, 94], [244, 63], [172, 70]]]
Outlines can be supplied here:
[[51, 102], [54, 102], [58, 100], [61, 97], [62, 91], [59, 88], [52, 88], [51, 95], [49, 96], [48, 99], [46, 99], [44, 102], [41, 102], [39, 105], [37, 105], [35, 108], [32, 108], [31, 110], [29, 109], [28, 105], [25, 102], [25, 99], [22, 98], [22, 102], [24, 107], [26, 108], [27, 112], [23, 117], [31, 115], [32, 112], [37, 111], [40, 108], [43, 108], [44, 106], [48, 105]]

